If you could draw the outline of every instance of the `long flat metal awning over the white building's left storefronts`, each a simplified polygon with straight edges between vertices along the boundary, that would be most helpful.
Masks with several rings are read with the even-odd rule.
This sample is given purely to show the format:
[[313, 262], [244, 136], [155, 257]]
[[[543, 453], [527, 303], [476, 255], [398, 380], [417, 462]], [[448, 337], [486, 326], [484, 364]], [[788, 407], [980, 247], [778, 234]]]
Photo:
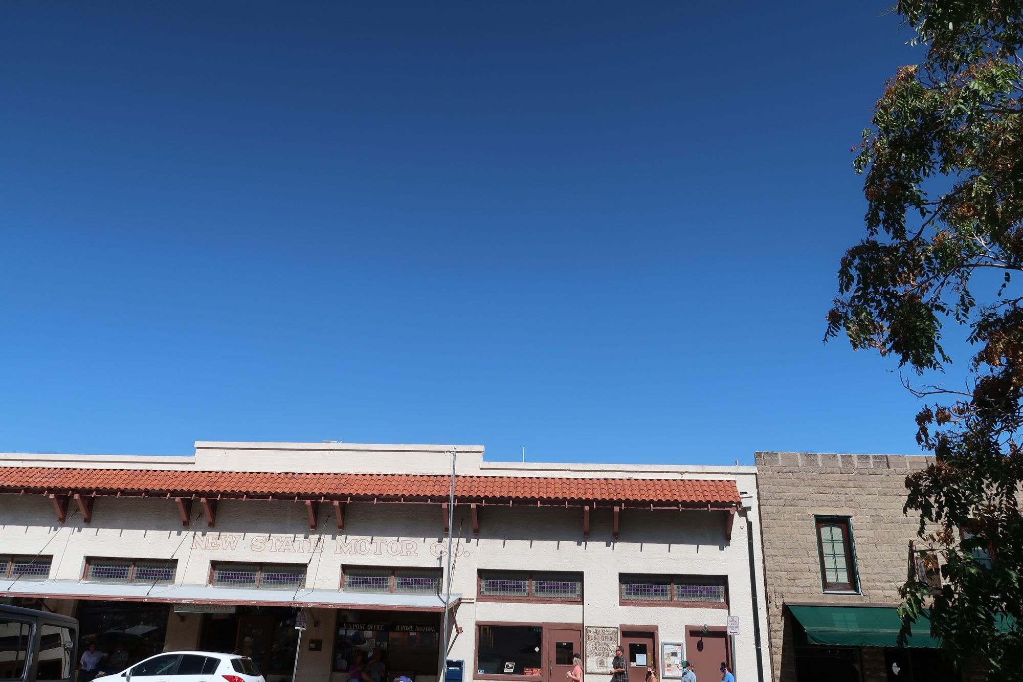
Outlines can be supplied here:
[[[203, 585], [114, 585], [79, 581], [0, 582], [0, 596], [49, 599], [102, 599], [169, 604], [234, 604], [395, 611], [444, 611], [444, 595], [362, 594], [335, 590], [244, 590]], [[457, 606], [460, 594], [452, 594]]]

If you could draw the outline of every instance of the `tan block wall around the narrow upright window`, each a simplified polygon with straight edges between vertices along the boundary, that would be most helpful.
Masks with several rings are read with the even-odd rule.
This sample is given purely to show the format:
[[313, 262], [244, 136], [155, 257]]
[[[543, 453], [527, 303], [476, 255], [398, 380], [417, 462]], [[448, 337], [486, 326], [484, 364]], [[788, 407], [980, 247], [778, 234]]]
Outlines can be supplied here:
[[[798, 602], [895, 604], [918, 521], [902, 513], [905, 477], [932, 458], [895, 455], [757, 453], [768, 636], [774, 679], [795, 682], [783, 606]], [[849, 516], [861, 594], [820, 587], [814, 516]], [[783, 642], [784, 640], [784, 642]], [[878, 664], [880, 656], [880, 665]], [[884, 682], [883, 649], [863, 649], [863, 679]]]

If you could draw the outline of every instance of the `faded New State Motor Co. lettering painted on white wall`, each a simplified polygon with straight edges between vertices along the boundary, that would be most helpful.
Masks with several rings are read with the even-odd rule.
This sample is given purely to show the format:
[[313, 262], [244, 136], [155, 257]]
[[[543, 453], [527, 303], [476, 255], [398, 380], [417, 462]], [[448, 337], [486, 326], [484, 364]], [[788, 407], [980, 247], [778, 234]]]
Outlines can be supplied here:
[[[193, 550], [223, 550], [270, 554], [319, 554], [328, 553], [348, 556], [432, 556], [447, 554], [447, 543], [425, 543], [418, 540], [367, 540], [364, 538], [303, 538], [283, 535], [251, 535], [243, 532], [196, 532], [192, 538]], [[469, 550], [461, 543], [455, 543], [451, 553], [454, 556], [469, 556]]]

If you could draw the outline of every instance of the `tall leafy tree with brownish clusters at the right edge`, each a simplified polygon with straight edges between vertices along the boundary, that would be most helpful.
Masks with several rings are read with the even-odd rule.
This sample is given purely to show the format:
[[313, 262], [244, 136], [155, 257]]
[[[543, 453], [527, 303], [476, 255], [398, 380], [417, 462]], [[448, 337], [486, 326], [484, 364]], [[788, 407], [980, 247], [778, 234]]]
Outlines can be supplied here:
[[958, 665], [1020, 680], [1023, 0], [899, 0], [895, 11], [926, 56], [897, 71], [863, 131], [866, 239], [842, 259], [826, 339], [844, 332], [923, 374], [951, 361], [943, 325], [968, 332], [962, 390], [905, 382], [926, 398], [917, 438], [935, 464], [906, 479], [932, 576], [910, 577], [900, 614], [905, 632], [929, 608]]

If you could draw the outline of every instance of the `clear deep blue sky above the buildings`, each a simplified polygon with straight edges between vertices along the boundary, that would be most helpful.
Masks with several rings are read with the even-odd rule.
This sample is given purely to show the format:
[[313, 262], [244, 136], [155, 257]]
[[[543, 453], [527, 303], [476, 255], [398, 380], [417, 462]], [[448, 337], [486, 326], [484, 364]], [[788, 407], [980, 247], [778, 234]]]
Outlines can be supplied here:
[[0, 451], [918, 452], [821, 344], [889, 4], [0, 4]]

